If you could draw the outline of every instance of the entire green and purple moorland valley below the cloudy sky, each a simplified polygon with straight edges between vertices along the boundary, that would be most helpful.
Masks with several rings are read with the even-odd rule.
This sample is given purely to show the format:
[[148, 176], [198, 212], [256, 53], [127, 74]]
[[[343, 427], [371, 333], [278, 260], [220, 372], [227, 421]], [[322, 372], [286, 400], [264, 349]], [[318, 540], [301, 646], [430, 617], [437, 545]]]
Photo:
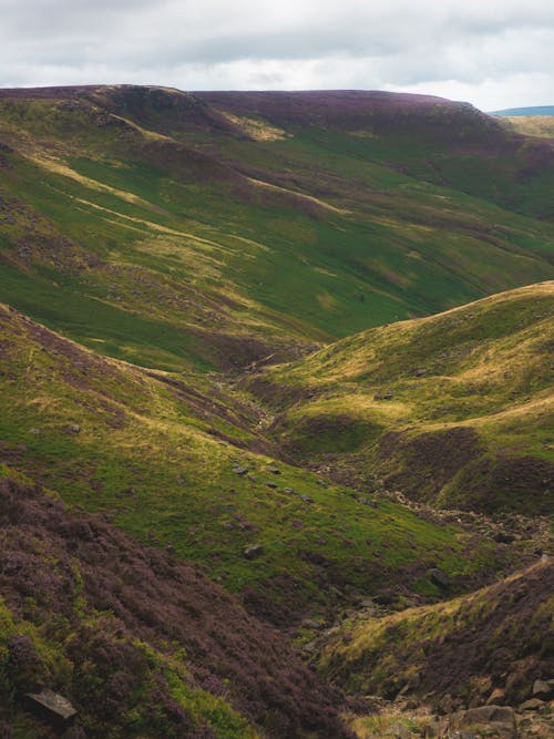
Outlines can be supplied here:
[[546, 739], [553, 186], [439, 97], [0, 90], [0, 737]]

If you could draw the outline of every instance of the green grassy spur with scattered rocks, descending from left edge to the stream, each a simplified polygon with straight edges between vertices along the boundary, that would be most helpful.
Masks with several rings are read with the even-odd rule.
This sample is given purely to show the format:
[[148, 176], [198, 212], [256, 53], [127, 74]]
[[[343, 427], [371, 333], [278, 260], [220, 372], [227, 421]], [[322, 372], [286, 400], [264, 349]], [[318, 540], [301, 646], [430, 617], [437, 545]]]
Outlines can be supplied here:
[[437, 566], [468, 589], [522, 555], [276, 461], [217, 382], [104, 359], [6, 308], [0, 326], [0, 461], [201, 564], [275, 624], [391, 587], [434, 596]]

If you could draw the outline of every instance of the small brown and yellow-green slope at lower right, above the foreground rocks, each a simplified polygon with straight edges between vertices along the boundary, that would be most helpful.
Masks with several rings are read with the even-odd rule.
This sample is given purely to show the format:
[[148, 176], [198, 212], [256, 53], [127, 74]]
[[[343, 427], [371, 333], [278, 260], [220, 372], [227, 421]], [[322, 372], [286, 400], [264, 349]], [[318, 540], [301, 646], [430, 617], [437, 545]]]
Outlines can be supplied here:
[[553, 585], [546, 562], [463, 598], [356, 618], [324, 648], [320, 670], [356, 694], [521, 702], [554, 668]]

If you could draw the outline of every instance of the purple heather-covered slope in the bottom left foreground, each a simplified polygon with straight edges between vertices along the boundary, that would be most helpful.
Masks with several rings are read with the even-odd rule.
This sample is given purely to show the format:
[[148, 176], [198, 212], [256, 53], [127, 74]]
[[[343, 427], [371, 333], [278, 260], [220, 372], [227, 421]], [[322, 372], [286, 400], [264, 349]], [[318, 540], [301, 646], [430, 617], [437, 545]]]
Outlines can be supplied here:
[[197, 568], [4, 466], [0, 523], [3, 736], [47, 736], [21, 710], [44, 687], [88, 737], [343, 736], [340, 695]]

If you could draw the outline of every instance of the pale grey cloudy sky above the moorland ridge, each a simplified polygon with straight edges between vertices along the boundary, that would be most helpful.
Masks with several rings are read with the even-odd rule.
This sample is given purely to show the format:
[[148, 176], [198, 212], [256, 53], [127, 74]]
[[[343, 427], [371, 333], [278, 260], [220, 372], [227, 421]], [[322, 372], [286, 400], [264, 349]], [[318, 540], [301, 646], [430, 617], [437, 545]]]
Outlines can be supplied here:
[[0, 0], [0, 86], [123, 82], [554, 104], [554, 2]]

